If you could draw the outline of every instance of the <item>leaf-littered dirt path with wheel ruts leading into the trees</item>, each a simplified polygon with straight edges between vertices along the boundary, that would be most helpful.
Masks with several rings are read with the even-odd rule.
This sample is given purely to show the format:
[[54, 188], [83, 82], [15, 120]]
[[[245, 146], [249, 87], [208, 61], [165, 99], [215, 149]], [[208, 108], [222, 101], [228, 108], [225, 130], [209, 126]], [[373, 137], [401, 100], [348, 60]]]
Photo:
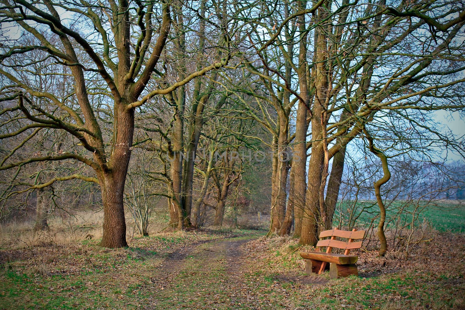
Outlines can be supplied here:
[[255, 238], [202, 241], [170, 253], [153, 270], [153, 296], [144, 309], [240, 309], [244, 302], [251, 309], [256, 296], [241, 245]]

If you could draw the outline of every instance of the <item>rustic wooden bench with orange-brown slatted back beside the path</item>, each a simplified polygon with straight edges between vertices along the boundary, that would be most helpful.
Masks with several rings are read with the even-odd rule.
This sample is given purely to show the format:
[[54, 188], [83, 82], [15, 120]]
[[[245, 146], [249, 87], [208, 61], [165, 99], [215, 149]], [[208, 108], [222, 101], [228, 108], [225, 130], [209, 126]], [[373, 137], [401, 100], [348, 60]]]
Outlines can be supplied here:
[[[331, 237], [330, 239], [321, 239]], [[347, 242], [336, 240], [336, 237], [347, 238]], [[354, 239], [363, 239], [365, 231], [342, 231], [334, 228], [329, 231], [322, 231], [319, 235], [320, 240], [317, 243], [316, 252], [300, 252], [300, 256], [306, 259], [305, 272], [310, 275], [312, 272], [321, 274], [329, 269], [329, 276], [332, 279], [358, 275], [357, 269], [358, 256], [349, 255], [352, 249], [362, 247], [362, 241], [353, 242]], [[326, 253], [320, 251], [320, 247], [326, 246]], [[332, 248], [344, 249], [344, 254], [331, 253]], [[330, 263], [330, 266], [327, 265]]]

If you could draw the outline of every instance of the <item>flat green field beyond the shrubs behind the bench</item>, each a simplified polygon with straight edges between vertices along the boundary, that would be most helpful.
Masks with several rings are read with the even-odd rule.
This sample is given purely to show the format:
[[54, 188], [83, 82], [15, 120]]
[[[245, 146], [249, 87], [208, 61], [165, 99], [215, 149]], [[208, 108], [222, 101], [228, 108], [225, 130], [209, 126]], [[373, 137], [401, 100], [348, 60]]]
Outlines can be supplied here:
[[[414, 206], [399, 201], [386, 205], [386, 211], [388, 228], [405, 225], [406, 228], [411, 228], [412, 218], [415, 217], [415, 226], [427, 224], [438, 231], [465, 232], [465, 203], [420, 203]], [[355, 207], [349, 201], [339, 202], [334, 214], [334, 223], [341, 222], [342, 226], [348, 226], [350, 221], [355, 226], [368, 227], [372, 220], [373, 224], [377, 224], [379, 220], [376, 201], [357, 202]]]

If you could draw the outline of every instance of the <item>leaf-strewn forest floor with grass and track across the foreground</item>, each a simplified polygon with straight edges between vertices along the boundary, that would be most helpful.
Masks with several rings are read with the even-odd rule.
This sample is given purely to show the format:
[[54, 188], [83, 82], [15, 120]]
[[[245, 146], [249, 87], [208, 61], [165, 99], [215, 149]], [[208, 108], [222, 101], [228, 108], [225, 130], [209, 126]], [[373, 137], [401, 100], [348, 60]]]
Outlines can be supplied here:
[[199, 231], [1, 249], [0, 309], [465, 309], [465, 236], [405, 259], [359, 251], [359, 277], [306, 276], [297, 241]]

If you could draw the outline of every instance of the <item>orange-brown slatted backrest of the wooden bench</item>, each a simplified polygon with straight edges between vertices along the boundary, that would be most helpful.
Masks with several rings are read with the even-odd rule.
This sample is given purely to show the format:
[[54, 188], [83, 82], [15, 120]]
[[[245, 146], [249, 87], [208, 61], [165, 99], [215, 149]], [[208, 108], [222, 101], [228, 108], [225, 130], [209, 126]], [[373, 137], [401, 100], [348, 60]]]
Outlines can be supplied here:
[[[353, 229], [352, 231], [342, 231], [342, 230], [335, 228], [329, 231], [322, 231], [319, 237], [320, 238], [331, 237], [331, 238], [319, 240], [317, 243], [317, 247], [327, 246], [329, 248], [344, 249], [346, 250], [346, 253], [348, 254], [349, 250], [359, 249], [362, 247], [362, 241], [353, 242], [353, 240], [363, 239], [365, 237], [365, 231], [357, 231], [356, 229]], [[336, 237], [347, 238], [349, 240], [347, 242], [339, 241], [339, 240], [335, 240]]]

